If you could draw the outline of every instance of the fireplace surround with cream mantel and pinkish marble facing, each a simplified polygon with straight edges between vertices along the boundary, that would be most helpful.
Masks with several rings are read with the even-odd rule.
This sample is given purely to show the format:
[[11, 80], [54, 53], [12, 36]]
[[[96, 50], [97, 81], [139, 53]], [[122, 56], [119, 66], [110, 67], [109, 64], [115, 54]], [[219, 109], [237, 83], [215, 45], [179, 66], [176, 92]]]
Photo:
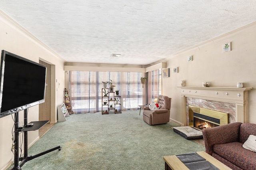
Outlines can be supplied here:
[[252, 87], [180, 87], [182, 120], [189, 125], [188, 105], [229, 113], [229, 123], [247, 123], [248, 91]]

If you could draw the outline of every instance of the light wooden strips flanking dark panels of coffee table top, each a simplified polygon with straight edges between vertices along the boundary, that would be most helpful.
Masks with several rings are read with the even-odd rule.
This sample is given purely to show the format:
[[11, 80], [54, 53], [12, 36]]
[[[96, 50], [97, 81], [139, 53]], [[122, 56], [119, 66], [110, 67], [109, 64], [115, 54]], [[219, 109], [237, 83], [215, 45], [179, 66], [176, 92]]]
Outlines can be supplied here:
[[[232, 170], [231, 168], [224, 165], [222, 162], [210, 156], [208, 153], [204, 151], [200, 151], [196, 153], [198, 153], [200, 156], [208, 160], [210, 163], [212, 163], [214, 166], [216, 166], [220, 170]], [[164, 156], [164, 161], [165, 161], [165, 170], [189, 170], [186, 167], [186, 165], [183, 164], [176, 155]]]

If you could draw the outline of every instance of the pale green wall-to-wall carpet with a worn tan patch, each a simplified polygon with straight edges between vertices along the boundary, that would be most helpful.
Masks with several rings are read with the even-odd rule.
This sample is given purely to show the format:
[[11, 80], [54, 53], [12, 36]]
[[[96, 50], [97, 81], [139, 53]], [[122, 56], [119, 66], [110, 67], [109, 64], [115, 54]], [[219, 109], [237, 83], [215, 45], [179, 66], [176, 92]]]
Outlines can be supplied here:
[[164, 170], [163, 156], [205, 150], [173, 132], [176, 126], [150, 126], [139, 111], [70, 115], [32, 145], [28, 155], [58, 145], [62, 149], [26, 162], [22, 170]]

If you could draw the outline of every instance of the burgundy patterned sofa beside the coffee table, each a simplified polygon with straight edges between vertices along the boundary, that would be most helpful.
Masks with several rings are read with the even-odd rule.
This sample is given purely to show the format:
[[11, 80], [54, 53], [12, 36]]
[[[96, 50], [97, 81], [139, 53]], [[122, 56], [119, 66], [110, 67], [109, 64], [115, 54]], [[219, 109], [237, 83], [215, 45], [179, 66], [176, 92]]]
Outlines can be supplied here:
[[256, 170], [256, 152], [243, 148], [249, 135], [256, 136], [256, 124], [230, 123], [202, 130], [208, 154], [233, 170]]

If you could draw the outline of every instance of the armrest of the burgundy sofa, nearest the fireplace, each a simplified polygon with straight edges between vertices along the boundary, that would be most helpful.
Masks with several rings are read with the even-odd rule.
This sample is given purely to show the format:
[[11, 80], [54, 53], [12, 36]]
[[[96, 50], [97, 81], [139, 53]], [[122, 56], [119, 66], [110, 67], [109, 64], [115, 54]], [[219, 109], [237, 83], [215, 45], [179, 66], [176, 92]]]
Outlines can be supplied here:
[[242, 123], [229, 123], [213, 128], [202, 130], [206, 153], [212, 155], [214, 144], [239, 142], [240, 125]]

